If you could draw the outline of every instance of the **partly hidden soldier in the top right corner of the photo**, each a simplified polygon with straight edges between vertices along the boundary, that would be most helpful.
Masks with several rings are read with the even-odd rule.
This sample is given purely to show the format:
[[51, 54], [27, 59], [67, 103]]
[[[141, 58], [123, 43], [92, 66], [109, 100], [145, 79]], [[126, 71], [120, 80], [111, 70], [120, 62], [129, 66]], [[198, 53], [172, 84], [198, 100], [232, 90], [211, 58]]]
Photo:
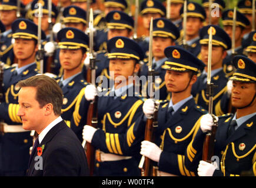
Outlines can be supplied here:
[[[252, 31], [252, 0], [240, 0], [237, 4], [238, 11], [241, 12], [245, 17], [250, 21], [250, 25], [247, 25], [244, 29], [244, 36], [242, 37], [243, 41], [248, 38], [249, 33]], [[255, 4], [256, 10], [256, 4]], [[255, 13], [254, 13], [255, 14]], [[254, 24], [256, 25], [256, 21], [254, 20]], [[242, 42], [243, 42], [242, 41]]]

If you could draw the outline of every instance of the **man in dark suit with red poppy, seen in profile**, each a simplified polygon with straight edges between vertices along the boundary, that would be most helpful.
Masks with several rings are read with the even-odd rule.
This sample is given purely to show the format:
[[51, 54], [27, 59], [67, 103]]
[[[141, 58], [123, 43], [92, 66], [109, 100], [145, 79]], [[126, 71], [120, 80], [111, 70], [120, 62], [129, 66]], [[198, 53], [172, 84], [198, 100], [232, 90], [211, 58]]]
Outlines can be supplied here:
[[38, 137], [29, 159], [27, 176], [87, 176], [81, 142], [61, 118], [62, 90], [48, 76], [32, 76], [18, 83], [19, 110], [25, 130]]

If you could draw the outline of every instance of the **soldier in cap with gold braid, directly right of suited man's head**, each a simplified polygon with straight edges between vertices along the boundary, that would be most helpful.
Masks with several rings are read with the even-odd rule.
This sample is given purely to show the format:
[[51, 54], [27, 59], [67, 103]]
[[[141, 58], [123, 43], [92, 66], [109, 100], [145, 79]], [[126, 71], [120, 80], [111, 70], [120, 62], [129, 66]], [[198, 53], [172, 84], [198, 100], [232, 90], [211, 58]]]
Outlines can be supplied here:
[[64, 28], [58, 32], [57, 37], [59, 62], [63, 69], [61, 78], [56, 79], [64, 95], [61, 117], [82, 141], [88, 103], [80, 104], [87, 86], [81, 70], [87, 56], [88, 36], [79, 29]]

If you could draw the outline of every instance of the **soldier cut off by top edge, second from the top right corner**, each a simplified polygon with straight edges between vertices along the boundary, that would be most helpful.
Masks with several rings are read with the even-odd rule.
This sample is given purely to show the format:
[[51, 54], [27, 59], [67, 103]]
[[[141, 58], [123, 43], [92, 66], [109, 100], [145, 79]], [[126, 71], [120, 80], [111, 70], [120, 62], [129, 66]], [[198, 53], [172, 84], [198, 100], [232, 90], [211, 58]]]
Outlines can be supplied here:
[[[206, 13], [205, 26], [210, 24], [220, 26], [221, 15], [226, 7], [225, 2], [223, 0], [213, 0], [211, 5], [211, 14], [209, 14], [209, 0], [203, 0], [202, 6], [204, 6], [204, 10]], [[211, 23], [209, 22], [209, 15], [211, 15]]]

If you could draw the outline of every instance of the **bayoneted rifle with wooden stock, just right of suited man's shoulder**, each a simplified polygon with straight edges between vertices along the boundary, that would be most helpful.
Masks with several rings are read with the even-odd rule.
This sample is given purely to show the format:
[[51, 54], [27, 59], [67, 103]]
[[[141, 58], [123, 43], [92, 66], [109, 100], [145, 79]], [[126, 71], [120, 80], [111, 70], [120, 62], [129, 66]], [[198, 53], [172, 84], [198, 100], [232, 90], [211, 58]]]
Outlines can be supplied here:
[[[87, 71], [87, 82], [92, 83], [95, 86], [95, 62], [96, 59], [94, 57], [93, 44], [94, 44], [94, 16], [92, 13], [92, 8], [90, 9], [89, 16], [89, 74]], [[88, 113], [87, 113], [87, 125], [97, 128], [98, 126], [98, 96], [95, 96], [95, 99], [92, 100], [89, 104]], [[94, 159], [95, 159], [95, 149], [91, 145], [91, 143], [83, 140], [82, 146], [85, 149], [85, 153], [87, 155], [87, 162], [89, 165], [89, 174], [92, 176], [94, 174]]]

